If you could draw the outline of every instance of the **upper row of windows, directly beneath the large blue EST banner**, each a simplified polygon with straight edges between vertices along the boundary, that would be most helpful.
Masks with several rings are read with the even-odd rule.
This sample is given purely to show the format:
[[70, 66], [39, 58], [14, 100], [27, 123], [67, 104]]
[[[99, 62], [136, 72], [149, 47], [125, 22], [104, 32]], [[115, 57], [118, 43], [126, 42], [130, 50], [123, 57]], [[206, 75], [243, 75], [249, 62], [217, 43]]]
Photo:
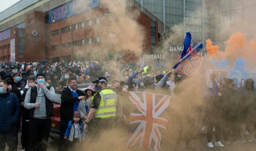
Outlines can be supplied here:
[[[93, 24], [98, 24], [98, 23], [100, 23], [99, 17], [86, 21], [87, 26], [91, 26]], [[78, 30], [81, 28], [84, 28], [84, 22], [80, 22], [80, 23], [76, 23], [76, 24], [72, 25], [73, 30]], [[61, 34], [64, 34], [64, 33], [70, 32], [70, 31], [71, 31], [71, 26], [66, 26], [66, 27], [61, 28]], [[51, 31], [51, 35], [52, 36], [59, 35], [59, 29]]]

